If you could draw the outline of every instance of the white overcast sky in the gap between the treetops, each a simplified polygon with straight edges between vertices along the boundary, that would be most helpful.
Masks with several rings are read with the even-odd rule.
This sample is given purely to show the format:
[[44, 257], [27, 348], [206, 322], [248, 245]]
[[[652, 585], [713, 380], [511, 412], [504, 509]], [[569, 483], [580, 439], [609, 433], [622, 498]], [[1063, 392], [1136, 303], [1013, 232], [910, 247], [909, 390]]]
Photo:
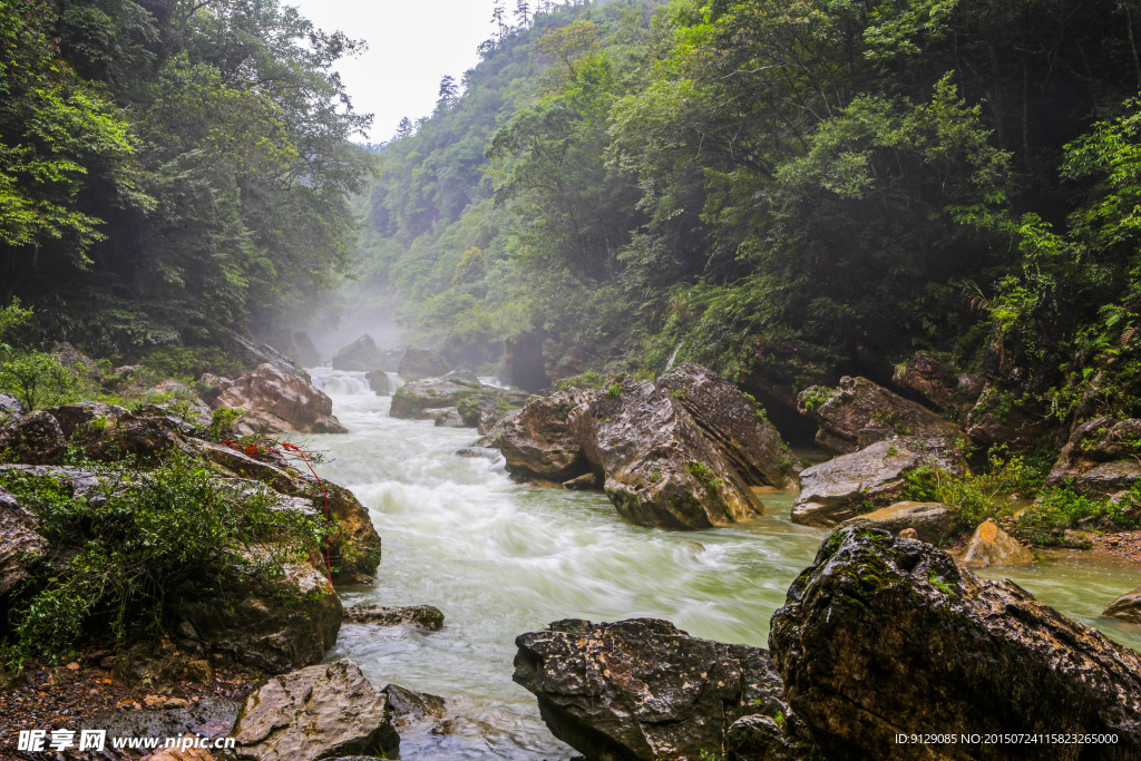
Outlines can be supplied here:
[[[439, 80], [459, 82], [476, 65], [476, 47], [491, 35], [493, 0], [282, 0], [325, 31], [363, 39], [369, 50], [337, 68], [353, 107], [372, 113], [369, 139], [382, 143], [402, 116], [436, 107]], [[513, 3], [508, 3], [513, 8]], [[359, 138], [357, 138], [359, 139]]]

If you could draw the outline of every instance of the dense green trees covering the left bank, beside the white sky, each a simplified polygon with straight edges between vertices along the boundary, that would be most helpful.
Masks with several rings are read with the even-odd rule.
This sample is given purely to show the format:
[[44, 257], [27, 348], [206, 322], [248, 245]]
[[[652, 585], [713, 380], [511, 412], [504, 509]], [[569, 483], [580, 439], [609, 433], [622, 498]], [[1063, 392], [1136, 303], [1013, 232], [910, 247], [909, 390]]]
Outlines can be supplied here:
[[96, 356], [268, 330], [355, 253], [372, 162], [333, 66], [276, 0], [0, 6], [0, 306]]

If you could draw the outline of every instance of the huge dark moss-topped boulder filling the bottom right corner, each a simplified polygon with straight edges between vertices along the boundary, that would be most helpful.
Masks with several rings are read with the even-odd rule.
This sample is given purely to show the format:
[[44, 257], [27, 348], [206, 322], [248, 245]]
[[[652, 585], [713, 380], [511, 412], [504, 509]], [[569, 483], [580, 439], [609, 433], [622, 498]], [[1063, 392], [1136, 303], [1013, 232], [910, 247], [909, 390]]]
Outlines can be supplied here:
[[1069, 743], [897, 742], [1041, 732], [1116, 735], [1085, 752], [1141, 758], [1141, 656], [916, 540], [833, 533], [774, 614], [769, 645], [828, 759], [1084, 758]]

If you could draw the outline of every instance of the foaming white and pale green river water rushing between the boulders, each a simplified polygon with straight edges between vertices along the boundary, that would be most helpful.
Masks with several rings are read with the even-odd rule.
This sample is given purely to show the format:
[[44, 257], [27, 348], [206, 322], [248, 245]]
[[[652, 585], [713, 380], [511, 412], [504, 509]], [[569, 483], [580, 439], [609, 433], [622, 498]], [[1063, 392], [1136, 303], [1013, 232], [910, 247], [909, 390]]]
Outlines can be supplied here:
[[[311, 371], [351, 431], [311, 437], [323, 477], [353, 489], [383, 541], [377, 582], [346, 605], [430, 604], [444, 630], [346, 624], [330, 659], [351, 657], [378, 687], [450, 704], [448, 734], [404, 735], [405, 759], [568, 759], [511, 681], [515, 638], [559, 618], [667, 618], [691, 634], [767, 647], [769, 618], [826, 532], [788, 520], [793, 495], [761, 494], [767, 515], [734, 528], [665, 532], [624, 523], [604, 495], [513, 484], [501, 461], [460, 458], [472, 430], [388, 416], [362, 373]], [[1045, 602], [1141, 647], [1141, 631], [1100, 617], [1141, 583], [1134, 568], [1065, 554], [1010, 576]]]

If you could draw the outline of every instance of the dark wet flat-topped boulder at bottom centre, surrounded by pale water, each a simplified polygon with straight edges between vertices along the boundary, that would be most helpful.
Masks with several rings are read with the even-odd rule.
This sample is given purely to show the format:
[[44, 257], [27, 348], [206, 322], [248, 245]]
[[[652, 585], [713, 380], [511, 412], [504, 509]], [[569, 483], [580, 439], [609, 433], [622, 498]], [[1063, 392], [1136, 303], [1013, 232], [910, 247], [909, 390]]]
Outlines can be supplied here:
[[558, 621], [515, 642], [515, 681], [588, 759], [721, 759], [736, 720], [788, 715], [768, 651], [697, 639], [667, 621]]

